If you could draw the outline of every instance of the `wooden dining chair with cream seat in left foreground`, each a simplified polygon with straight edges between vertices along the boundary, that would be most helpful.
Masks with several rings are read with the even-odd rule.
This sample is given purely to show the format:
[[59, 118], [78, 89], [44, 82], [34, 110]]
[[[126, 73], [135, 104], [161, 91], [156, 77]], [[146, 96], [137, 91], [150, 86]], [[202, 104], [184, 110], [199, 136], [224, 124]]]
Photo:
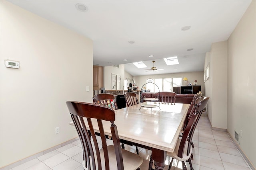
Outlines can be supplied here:
[[[66, 102], [83, 149], [83, 168], [88, 170], [136, 170], [143, 159], [128, 150], [121, 149], [115, 111], [107, 106], [84, 102]], [[109, 121], [114, 145], [107, 146], [102, 121]], [[98, 129], [102, 149], [95, 134]], [[90, 134], [89, 134], [90, 132]], [[92, 137], [92, 140], [90, 139]]]

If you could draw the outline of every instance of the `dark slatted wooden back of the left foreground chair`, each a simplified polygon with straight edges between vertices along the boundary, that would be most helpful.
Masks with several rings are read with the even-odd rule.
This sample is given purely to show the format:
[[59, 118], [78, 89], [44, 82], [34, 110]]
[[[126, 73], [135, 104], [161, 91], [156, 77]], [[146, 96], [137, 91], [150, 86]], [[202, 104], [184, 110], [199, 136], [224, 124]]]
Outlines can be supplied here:
[[[114, 143], [118, 170], [123, 170], [124, 164], [120, 147], [120, 140], [118, 137], [117, 127], [114, 124], [115, 111], [112, 108], [100, 106], [98, 104], [90, 104], [84, 102], [66, 102], [66, 104], [68, 106], [68, 110], [71, 114], [74, 126], [76, 127], [76, 131], [82, 143], [84, 160], [86, 161], [87, 165], [86, 167], [88, 167], [89, 170], [96, 170], [96, 167], [98, 170], [101, 170], [102, 168], [104, 168], [102, 167], [101, 162], [104, 161], [105, 169], [110, 170], [108, 148], [105, 140], [104, 128], [102, 125], [102, 120], [105, 120], [110, 121], [110, 129], [112, 134], [112, 140]], [[99, 128], [104, 156], [100, 154], [98, 141], [94, 132], [94, 126], [92, 122], [97, 122], [98, 124], [97, 128]], [[93, 142], [90, 140], [90, 136], [92, 136]], [[93, 154], [94, 150], [96, 152], [95, 154]]]

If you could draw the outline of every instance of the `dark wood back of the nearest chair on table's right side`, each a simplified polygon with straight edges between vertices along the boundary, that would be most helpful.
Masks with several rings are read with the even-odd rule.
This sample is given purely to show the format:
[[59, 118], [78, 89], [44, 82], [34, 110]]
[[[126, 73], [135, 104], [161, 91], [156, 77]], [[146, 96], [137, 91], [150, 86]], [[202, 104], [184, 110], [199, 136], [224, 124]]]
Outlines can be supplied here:
[[208, 103], [208, 100], [209, 100], [208, 97], [200, 97], [200, 98], [196, 99], [194, 113], [191, 115], [191, 117], [188, 121], [188, 125], [186, 126], [186, 129], [184, 130], [184, 133], [182, 135], [180, 147], [178, 150], [178, 157], [180, 157], [180, 158], [183, 157], [186, 141], [188, 141], [187, 155], [190, 154], [192, 137], [194, 135], [194, 131], [196, 129], [196, 125], [199, 121], [199, 118], [202, 115], [202, 112], [204, 111], [204, 108], [206, 107], [206, 105]]

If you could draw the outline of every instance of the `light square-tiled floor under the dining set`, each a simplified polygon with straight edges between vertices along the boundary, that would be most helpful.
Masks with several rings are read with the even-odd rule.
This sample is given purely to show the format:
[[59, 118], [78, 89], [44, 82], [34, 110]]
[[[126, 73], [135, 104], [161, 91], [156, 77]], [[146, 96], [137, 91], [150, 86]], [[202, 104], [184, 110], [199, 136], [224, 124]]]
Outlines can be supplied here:
[[[193, 136], [192, 151], [194, 170], [252, 170], [227, 133], [211, 130], [205, 113], [202, 114]], [[111, 141], [108, 140], [111, 145]], [[136, 153], [135, 147], [126, 146], [126, 150]], [[144, 159], [141, 170], [148, 170], [151, 151], [139, 148]], [[167, 157], [165, 170], [171, 158]], [[80, 140], [39, 156], [11, 170], [83, 170], [82, 148]], [[186, 162], [188, 170], [189, 164]], [[174, 160], [172, 170], [182, 170], [181, 162]]]

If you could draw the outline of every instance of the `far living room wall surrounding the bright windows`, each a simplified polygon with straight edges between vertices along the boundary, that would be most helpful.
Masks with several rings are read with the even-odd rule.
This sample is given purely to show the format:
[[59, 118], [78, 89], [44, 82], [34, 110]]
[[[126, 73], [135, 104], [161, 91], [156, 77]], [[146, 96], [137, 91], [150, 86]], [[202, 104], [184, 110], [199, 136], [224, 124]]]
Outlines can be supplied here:
[[[204, 73], [203, 72], [182, 72], [182, 73], [173, 73], [173, 74], [156, 74], [156, 75], [147, 75], [147, 76], [134, 76], [133, 79], [136, 82], [136, 85], [141, 90], [142, 86], [146, 83], [148, 78], [173, 78], [173, 77], [186, 77], [188, 78], [189, 83], [193, 83], [194, 80], [197, 80], [197, 85], [201, 85], [201, 91], [204, 95]], [[185, 81], [184, 81], [185, 83]]]

